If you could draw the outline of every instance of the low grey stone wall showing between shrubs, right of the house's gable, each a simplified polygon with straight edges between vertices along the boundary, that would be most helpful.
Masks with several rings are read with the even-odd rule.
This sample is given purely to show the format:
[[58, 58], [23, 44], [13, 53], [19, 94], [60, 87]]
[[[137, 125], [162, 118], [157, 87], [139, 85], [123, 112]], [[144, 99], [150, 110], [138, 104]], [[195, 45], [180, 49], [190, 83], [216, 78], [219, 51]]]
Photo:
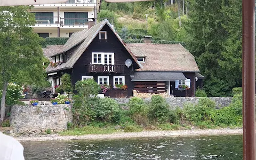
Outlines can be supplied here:
[[[128, 103], [131, 98], [113, 98], [114, 100], [117, 101], [119, 104], [125, 104]], [[166, 101], [169, 103], [171, 108], [175, 107], [183, 107], [183, 104], [185, 102], [190, 102], [190, 103], [198, 103], [199, 97], [170, 97], [170, 98], [165, 98]], [[231, 102], [231, 97], [211, 97], [211, 100], [213, 100], [216, 103], [216, 108], [222, 108], [226, 107], [230, 104]], [[144, 99], [146, 102], [150, 102], [150, 98]]]

